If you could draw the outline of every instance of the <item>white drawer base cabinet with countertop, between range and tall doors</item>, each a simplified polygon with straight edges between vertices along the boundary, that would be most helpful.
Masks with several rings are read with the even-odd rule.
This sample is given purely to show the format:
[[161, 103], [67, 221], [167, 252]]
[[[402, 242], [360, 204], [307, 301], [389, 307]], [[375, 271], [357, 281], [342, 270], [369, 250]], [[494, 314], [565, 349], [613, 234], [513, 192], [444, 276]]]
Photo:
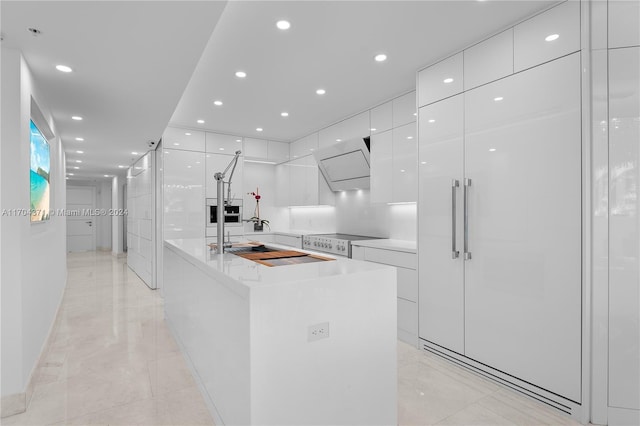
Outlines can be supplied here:
[[398, 339], [416, 346], [418, 342], [418, 271], [415, 253], [387, 248], [351, 248], [352, 259], [395, 266], [397, 269]]

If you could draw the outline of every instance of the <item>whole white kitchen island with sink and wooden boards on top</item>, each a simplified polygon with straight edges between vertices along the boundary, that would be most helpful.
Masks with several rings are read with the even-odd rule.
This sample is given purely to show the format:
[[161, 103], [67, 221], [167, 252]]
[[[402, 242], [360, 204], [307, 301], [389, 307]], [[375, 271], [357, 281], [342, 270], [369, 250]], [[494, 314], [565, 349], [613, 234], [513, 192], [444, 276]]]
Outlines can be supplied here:
[[188, 239], [165, 241], [163, 274], [216, 424], [397, 424], [395, 268], [268, 267]]

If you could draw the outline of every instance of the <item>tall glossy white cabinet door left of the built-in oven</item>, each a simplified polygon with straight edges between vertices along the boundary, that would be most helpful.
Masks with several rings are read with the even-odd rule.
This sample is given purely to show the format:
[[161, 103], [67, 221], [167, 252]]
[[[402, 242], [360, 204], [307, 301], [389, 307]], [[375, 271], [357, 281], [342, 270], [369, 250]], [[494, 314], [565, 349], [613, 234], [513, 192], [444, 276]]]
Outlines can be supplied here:
[[204, 238], [205, 154], [165, 149], [163, 173], [164, 238]]

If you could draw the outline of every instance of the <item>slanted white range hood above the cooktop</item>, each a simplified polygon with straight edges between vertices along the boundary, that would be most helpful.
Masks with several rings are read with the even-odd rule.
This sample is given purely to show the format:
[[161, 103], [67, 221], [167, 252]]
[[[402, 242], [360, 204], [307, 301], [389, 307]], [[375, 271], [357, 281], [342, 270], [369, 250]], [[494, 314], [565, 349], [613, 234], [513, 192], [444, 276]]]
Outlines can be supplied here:
[[332, 191], [368, 189], [370, 186], [369, 137], [338, 142], [313, 155]]

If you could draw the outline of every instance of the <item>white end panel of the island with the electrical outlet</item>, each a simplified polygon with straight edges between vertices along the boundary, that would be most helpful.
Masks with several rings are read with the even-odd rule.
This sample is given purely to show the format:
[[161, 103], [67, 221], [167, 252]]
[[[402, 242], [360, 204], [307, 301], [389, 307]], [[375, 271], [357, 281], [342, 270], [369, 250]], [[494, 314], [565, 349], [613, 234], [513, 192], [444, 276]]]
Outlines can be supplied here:
[[252, 423], [397, 424], [396, 301], [389, 266], [252, 288]]

